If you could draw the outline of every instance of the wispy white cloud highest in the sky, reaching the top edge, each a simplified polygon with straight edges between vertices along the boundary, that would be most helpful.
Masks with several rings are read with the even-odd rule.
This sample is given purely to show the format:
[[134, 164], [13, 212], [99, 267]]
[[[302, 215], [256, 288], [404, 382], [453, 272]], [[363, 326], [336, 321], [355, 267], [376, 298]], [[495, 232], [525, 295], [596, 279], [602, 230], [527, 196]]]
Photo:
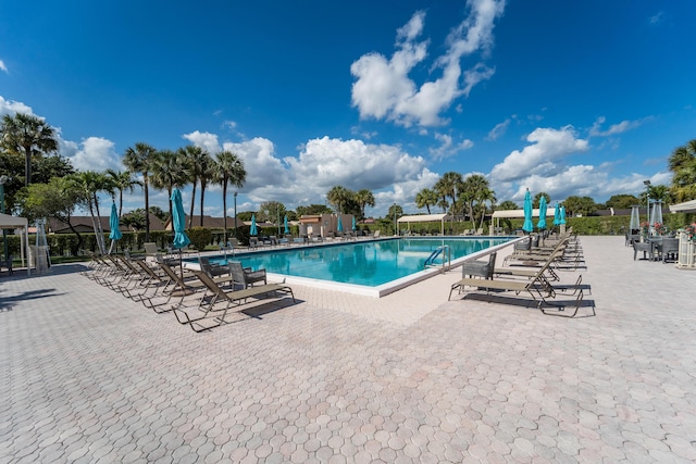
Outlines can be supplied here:
[[442, 76], [417, 84], [408, 77], [410, 71], [427, 55], [427, 40], [417, 41], [423, 30], [425, 13], [417, 12], [408, 24], [397, 32], [397, 50], [390, 60], [380, 53], [362, 55], [350, 66], [357, 78], [352, 86], [352, 105], [361, 118], [386, 118], [410, 127], [442, 125], [440, 113], [480, 81], [489, 79], [494, 70], [477, 63], [464, 72], [462, 88], [461, 59], [475, 51], [487, 53], [493, 46], [493, 27], [502, 14], [505, 1], [470, 0], [469, 16], [447, 38], [446, 53], [435, 60]]

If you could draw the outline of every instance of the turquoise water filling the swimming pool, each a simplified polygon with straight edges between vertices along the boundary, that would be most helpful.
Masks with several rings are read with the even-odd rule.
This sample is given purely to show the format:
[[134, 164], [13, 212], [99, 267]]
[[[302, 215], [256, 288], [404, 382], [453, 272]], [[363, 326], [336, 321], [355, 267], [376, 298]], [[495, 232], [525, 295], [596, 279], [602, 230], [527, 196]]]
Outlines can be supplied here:
[[[451, 260], [465, 256], [510, 237], [478, 238], [400, 238], [340, 242], [318, 247], [290, 247], [261, 252], [236, 253], [233, 258], [211, 258], [211, 263], [240, 261], [245, 267], [265, 268], [269, 273], [307, 277], [341, 284], [376, 287], [423, 271], [425, 260], [443, 244], [451, 250]], [[191, 260], [195, 261], [195, 260]], [[435, 261], [440, 264], [442, 260]]]

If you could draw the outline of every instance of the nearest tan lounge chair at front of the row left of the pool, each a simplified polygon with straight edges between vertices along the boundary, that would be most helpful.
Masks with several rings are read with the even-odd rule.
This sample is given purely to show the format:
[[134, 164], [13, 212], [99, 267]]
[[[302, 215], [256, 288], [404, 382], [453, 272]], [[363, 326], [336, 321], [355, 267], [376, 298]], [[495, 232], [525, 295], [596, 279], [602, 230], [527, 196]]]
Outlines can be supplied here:
[[[204, 298], [201, 298], [201, 302], [204, 300], [207, 300], [207, 302], [198, 306], [198, 310], [202, 311], [203, 314], [198, 317], [191, 317], [188, 311], [185, 311], [182, 308], [173, 308], [176, 319], [181, 324], [187, 324], [190, 326], [194, 331], [209, 330], [223, 325], [225, 323], [225, 315], [227, 314], [227, 311], [229, 311], [231, 308], [239, 308], [244, 305], [250, 298], [284, 293], [289, 294], [293, 298], [293, 303], [295, 303], [293, 289], [283, 284], [266, 284], [258, 287], [245, 288], [243, 290], [226, 291], [220, 288], [220, 286], [202, 271], [194, 271], [194, 273], [206, 286], [206, 294]], [[222, 311], [222, 315], [217, 316], [216, 323], [211, 326], [200, 325], [199, 322], [208, 318], [208, 314], [211, 311]]]

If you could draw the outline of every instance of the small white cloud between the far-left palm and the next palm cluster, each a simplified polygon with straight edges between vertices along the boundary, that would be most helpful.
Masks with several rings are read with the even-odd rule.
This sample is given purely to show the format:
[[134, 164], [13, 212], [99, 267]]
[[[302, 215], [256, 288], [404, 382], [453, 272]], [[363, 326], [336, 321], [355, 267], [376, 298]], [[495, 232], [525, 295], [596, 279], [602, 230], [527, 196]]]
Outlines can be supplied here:
[[121, 156], [114, 149], [114, 142], [101, 137], [88, 137], [79, 145], [59, 139], [61, 154], [67, 158], [73, 167], [79, 171], [122, 171]]

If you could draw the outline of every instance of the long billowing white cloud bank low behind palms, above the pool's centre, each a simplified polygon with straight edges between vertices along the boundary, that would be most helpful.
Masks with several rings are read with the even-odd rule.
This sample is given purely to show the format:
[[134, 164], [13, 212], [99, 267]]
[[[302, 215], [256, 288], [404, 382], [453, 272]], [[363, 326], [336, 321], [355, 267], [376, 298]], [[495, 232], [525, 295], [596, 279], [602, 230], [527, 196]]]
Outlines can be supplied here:
[[[213, 139], [210, 134], [206, 137], [192, 134], [197, 134], [191, 136], [197, 142]], [[240, 193], [251, 200], [254, 208], [269, 200], [281, 201], [288, 208], [323, 203], [326, 192], [341, 185], [351, 190], [372, 190], [377, 202], [372, 211], [381, 215], [394, 201], [412, 204], [415, 192], [432, 187], [439, 177], [425, 167], [421, 156], [410, 155], [398, 147], [355, 139], [312, 139], [300, 147], [298, 156], [283, 159], [275, 153], [273, 142], [261, 137], [243, 142], [226, 141], [223, 149], [243, 159], [247, 179]], [[244, 211], [241, 203], [237, 206]], [[207, 211], [222, 214], [221, 206]]]

